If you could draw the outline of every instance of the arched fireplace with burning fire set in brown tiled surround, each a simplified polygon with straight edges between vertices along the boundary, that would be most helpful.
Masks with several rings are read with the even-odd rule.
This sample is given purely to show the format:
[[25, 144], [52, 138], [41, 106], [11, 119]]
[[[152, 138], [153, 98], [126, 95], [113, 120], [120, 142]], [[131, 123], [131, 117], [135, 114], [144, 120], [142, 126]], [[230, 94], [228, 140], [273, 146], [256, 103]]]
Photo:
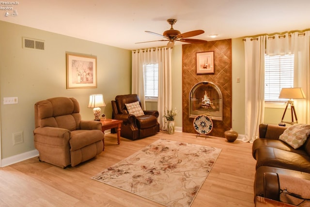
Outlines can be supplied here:
[[189, 93], [189, 117], [205, 114], [212, 120], [223, 120], [222, 93], [212, 82], [197, 83]]

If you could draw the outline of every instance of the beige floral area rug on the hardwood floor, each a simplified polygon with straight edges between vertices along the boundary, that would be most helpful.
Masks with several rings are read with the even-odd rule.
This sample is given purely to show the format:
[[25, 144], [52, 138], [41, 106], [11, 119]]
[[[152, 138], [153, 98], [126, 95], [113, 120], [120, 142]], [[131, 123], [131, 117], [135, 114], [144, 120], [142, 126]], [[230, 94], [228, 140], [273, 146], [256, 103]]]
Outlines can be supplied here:
[[92, 177], [168, 207], [189, 207], [221, 149], [157, 140]]

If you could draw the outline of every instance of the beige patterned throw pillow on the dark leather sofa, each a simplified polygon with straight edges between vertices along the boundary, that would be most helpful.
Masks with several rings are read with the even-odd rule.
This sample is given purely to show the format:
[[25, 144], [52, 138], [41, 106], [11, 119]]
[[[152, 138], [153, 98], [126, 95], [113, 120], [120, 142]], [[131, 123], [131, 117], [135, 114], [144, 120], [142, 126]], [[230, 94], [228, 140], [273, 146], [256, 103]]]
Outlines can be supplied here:
[[279, 140], [289, 144], [294, 149], [301, 147], [310, 134], [310, 125], [294, 124], [284, 130], [279, 136]]

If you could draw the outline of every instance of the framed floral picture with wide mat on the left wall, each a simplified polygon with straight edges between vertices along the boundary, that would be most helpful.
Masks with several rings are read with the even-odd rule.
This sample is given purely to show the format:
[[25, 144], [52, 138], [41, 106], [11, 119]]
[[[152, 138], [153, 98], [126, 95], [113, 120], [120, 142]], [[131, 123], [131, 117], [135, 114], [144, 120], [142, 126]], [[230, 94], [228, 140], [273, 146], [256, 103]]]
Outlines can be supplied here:
[[67, 89], [97, 88], [97, 57], [66, 52]]

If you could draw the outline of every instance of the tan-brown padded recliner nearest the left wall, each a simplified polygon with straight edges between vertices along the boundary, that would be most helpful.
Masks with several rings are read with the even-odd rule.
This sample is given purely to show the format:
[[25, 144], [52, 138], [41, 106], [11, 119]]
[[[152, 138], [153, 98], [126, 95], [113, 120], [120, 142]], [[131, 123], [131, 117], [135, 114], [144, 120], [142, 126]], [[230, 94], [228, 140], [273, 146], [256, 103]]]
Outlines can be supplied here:
[[81, 120], [75, 98], [55, 97], [34, 104], [34, 146], [41, 161], [65, 168], [104, 149], [101, 122]]

